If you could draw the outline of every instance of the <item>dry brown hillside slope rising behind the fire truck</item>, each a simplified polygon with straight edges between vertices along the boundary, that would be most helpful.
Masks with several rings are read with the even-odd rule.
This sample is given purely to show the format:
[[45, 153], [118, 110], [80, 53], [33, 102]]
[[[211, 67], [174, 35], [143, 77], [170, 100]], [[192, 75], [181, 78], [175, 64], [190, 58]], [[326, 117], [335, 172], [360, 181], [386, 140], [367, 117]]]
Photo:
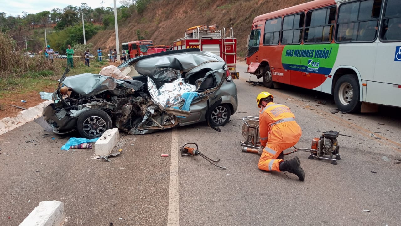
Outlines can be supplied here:
[[[172, 45], [184, 37], [184, 31], [197, 25], [218, 25], [228, 32], [232, 27], [237, 38], [237, 55], [246, 55], [247, 36], [253, 18], [260, 14], [294, 6], [311, 0], [149, 0], [142, 13], [135, 12], [118, 21], [119, 43], [136, 41], [140, 36], [155, 45]], [[227, 33], [228, 34], [228, 33]], [[138, 37], [139, 36], [139, 37]], [[115, 48], [114, 27], [99, 31], [89, 42], [102, 49]]]

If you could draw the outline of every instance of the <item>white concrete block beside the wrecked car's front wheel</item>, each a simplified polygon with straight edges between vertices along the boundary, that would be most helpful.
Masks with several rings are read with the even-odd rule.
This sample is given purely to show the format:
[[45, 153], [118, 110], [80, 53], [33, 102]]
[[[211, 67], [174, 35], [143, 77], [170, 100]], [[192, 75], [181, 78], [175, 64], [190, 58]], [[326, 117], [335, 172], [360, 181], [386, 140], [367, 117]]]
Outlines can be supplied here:
[[107, 129], [99, 140], [95, 142], [95, 155], [110, 154], [119, 139], [117, 128]]

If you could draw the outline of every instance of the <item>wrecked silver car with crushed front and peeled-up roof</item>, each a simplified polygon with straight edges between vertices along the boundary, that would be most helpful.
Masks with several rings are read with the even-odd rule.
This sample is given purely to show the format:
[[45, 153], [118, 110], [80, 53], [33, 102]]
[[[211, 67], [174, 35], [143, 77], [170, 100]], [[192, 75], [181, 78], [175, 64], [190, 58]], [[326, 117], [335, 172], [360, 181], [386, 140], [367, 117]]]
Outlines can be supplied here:
[[[97, 138], [117, 127], [128, 134], [202, 121], [220, 131], [237, 111], [237, 88], [217, 55], [182, 49], [144, 55], [118, 66], [128, 79], [99, 74], [66, 77], [43, 117], [57, 134]], [[130, 79], [132, 78], [132, 80]]]

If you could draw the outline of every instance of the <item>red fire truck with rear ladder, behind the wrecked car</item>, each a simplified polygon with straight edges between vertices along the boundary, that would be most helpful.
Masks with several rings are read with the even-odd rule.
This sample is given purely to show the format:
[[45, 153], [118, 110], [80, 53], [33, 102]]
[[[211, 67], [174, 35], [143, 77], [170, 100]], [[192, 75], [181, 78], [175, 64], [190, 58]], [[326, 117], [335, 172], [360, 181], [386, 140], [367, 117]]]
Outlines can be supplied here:
[[237, 39], [234, 38], [233, 28], [229, 29], [226, 37], [225, 28], [217, 30], [216, 25], [195, 26], [186, 29], [184, 37], [173, 42], [173, 49], [198, 48], [214, 53], [226, 62], [233, 79], [239, 79], [237, 72]]

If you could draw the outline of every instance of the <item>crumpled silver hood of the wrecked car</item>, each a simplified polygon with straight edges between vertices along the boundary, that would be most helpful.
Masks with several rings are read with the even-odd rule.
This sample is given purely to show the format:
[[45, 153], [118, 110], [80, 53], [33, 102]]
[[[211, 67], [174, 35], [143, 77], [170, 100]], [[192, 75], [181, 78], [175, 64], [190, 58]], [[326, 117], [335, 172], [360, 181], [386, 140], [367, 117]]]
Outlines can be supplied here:
[[95, 96], [107, 90], [113, 90], [113, 92], [116, 92], [115, 95], [123, 95], [126, 91], [115, 89], [117, 86], [129, 88], [132, 90], [131, 93], [133, 93], [144, 85], [140, 81], [117, 80], [110, 76], [91, 73], [66, 77], [62, 83], [84, 97]]

